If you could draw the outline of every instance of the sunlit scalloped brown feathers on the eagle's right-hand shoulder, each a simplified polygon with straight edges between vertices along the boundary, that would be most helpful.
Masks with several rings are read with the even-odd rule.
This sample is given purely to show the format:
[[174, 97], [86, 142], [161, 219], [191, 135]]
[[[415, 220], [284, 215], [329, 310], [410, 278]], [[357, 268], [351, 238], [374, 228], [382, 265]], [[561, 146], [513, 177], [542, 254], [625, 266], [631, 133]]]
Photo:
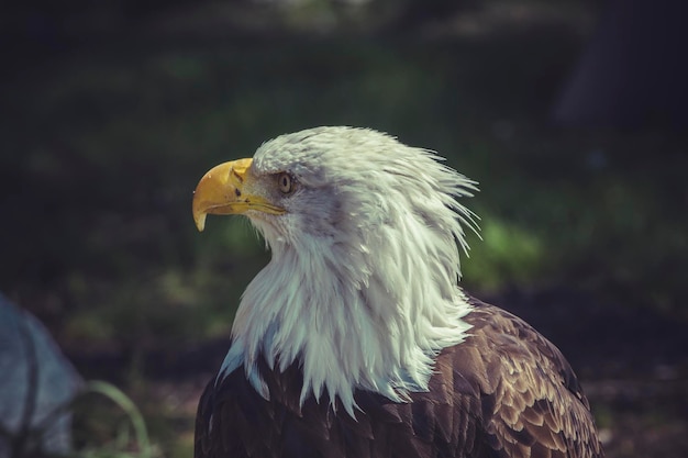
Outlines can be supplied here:
[[473, 335], [454, 347], [454, 367], [480, 387], [484, 440], [496, 456], [602, 457], [588, 400], [558, 348], [515, 315], [471, 302]]

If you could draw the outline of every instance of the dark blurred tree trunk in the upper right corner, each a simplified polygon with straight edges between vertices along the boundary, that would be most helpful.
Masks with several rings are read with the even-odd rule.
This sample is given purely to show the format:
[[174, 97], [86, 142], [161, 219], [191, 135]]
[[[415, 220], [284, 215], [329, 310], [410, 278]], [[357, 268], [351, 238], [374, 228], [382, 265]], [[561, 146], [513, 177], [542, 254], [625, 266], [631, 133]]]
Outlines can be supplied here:
[[688, 2], [612, 0], [553, 111], [562, 125], [688, 124]]

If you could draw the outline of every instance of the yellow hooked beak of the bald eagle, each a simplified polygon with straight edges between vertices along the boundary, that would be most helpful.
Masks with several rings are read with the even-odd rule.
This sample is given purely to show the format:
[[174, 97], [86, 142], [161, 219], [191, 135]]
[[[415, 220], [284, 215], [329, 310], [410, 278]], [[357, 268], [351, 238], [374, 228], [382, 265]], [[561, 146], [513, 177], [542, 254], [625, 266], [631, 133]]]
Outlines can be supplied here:
[[210, 169], [193, 191], [193, 221], [199, 231], [206, 227], [209, 214], [242, 214], [257, 210], [269, 214], [284, 214], [285, 209], [265, 197], [262, 183], [249, 172], [253, 159], [238, 159]]

